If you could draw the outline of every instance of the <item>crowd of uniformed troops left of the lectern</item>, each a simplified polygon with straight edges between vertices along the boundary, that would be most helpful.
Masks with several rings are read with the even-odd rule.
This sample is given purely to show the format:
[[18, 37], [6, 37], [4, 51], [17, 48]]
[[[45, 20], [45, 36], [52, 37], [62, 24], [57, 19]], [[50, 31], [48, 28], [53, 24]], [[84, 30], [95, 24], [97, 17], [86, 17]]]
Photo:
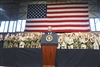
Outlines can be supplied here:
[[41, 48], [40, 39], [41, 34], [7, 34], [3, 40], [3, 48]]

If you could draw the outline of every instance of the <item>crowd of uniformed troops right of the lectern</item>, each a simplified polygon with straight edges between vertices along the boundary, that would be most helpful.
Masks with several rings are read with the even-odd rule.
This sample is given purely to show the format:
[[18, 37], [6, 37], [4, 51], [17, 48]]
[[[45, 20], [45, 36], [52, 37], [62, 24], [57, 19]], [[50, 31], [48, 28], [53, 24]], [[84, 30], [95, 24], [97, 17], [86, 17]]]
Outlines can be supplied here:
[[59, 34], [58, 48], [61, 49], [99, 49], [100, 34], [64, 33]]

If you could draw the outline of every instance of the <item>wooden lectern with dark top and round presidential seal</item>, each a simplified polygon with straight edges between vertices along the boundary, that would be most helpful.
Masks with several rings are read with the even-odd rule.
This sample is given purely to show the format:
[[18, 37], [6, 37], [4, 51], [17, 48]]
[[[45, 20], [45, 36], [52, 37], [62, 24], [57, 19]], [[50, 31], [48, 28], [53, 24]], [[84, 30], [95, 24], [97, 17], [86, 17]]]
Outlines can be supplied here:
[[55, 67], [58, 38], [56, 34], [43, 34], [41, 38], [43, 67]]

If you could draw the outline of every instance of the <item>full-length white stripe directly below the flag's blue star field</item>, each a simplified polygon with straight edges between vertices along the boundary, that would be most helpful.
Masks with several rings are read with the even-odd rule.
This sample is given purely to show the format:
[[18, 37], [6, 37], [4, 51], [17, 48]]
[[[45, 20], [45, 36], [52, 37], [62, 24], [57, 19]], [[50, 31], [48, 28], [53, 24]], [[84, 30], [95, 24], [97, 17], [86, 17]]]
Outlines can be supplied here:
[[84, 18], [39, 18], [39, 19], [27, 19], [27, 21], [43, 21], [43, 20], [88, 20], [88, 17], [84, 17]]

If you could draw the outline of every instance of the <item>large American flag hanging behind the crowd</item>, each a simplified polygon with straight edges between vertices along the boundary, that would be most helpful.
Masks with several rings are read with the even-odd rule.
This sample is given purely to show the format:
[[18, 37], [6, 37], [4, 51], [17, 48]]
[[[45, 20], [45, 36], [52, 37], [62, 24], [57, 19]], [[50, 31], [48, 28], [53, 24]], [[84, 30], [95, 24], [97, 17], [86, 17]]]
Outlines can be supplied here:
[[88, 3], [29, 4], [25, 32], [89, 32]]

